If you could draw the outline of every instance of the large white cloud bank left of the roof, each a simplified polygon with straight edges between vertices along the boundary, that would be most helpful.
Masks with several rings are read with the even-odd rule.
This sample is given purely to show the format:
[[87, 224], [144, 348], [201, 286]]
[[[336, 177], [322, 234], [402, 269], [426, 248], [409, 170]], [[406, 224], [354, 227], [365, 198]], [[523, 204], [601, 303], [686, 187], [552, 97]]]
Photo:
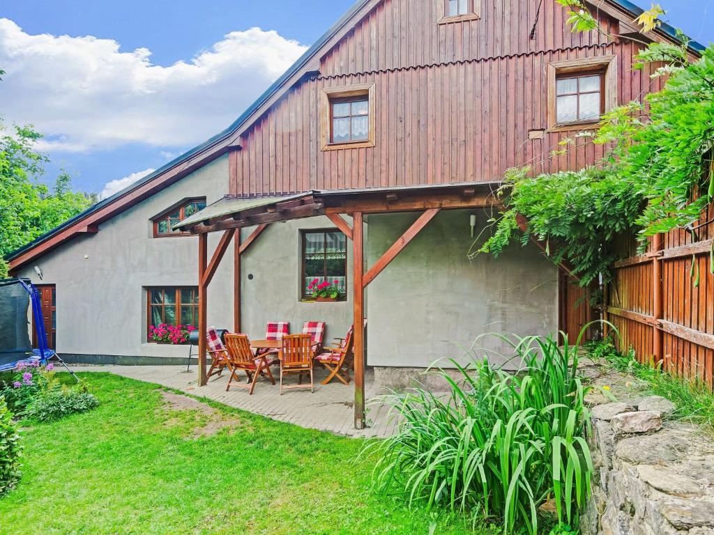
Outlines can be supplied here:
[[1, 111], [50, 136], [45, 151], [190, 146], [226, 128], [305, 51], [275, 31], [233, 31], [169, 66], [111, 39], [26, 34], [0, 19]]

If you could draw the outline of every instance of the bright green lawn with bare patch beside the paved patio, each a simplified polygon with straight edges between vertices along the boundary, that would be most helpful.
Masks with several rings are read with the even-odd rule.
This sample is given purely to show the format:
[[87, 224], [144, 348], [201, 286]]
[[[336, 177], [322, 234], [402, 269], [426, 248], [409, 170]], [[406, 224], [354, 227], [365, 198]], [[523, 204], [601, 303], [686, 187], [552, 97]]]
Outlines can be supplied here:
[[[371, 493], [361, 441], [216, 403], [213, 414], [177, 409], [156, 385], [83, 377], [101, 406], [24, 430], [1, 534], [429, 533], [428, 512]], [[434, 533], [473, 531], [442, 518]]]

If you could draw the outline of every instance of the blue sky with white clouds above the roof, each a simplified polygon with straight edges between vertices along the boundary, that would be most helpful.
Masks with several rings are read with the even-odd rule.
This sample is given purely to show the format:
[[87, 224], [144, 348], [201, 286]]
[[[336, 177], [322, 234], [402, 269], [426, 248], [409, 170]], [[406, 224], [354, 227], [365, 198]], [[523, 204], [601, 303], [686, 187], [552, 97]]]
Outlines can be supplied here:
[[[64, 134], [43, 145], [49, 179], [111, 193], [228, 126], [352, 3], [4, 0], [0, 113]], [[714, 41], [714, 0], [660, 3]]]

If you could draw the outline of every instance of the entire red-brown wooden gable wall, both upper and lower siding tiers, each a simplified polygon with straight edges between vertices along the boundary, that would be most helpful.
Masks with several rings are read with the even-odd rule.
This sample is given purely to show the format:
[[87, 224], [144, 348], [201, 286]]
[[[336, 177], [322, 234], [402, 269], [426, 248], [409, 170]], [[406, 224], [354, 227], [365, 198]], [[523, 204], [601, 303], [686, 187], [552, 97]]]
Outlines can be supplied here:
[[[565, 12], [543, 0], [480, 0], [481, 19], [438, 24], [440, 0], [385, 0], [321, 58], [320, 75], [286, 93], [231, 153], [231, 193], [500, 180], [516, 165], [537, 172], [594, 163], [602, 147], [581, 140], [548, 158], [573, 132], [547, 128], [551, 61], [616, 54], [618, 102], [656, 91], [650, 71], [632, 68], [635, 45], [572, 34]], [[618, 24], [603, 16], [603, 25]], [[374, 83], [376, 146], [322, 151], [323, 88]]]

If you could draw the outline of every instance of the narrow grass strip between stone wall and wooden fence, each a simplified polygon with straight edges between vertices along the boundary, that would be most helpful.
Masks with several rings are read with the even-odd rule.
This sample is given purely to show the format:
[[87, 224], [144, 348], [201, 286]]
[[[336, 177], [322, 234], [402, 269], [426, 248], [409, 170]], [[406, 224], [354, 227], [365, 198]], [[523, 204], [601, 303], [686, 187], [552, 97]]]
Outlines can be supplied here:
[[705, 432], [714, 435], [714, 392], [707, 384], [640, 364], [633, 351], [623, 355], [611, 340], [591, 342], [588, 351], [593, 358], [607, 360], [615, 370], [645, 382], [642, 394], [666, 397], [673, 402], [677, 410], [670, 417], [700, 424]]

